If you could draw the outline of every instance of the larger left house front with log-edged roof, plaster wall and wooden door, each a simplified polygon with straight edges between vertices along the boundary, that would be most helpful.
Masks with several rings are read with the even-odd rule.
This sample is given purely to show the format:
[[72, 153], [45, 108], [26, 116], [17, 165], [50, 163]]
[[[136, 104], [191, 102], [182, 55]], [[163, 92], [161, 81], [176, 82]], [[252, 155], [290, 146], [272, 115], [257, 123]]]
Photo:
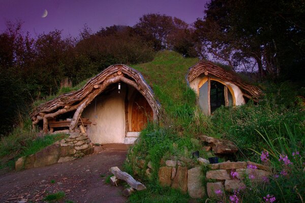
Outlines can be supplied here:
[[123, 64], [111, 65], [81, 89], [58, 96], [32, 113], [43, 132], [78, 127], [93, 143], [133, 143], [148, 120], [158, 121], [160, 104], [143, 76]]

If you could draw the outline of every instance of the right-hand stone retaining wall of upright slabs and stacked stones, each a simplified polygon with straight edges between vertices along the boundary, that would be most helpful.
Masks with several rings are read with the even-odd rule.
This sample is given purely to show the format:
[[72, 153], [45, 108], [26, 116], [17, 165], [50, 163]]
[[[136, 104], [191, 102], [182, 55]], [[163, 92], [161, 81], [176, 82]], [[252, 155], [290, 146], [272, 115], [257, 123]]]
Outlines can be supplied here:
[[[185, 163], [180, 160], [165, 161], [165, 164], [159, 168], [160, 185], [179, 189], [184, 193], [188, 192], [193, 198], [203, 198], [206, 194], [209, 197], [215, 195], [216, 190], [233, 192], [235, 189], [242, 189], [245, 187], [242, 182], [245, 177], [254, 181], [263, 181], [270, 175], [267, 166], [251, 161], [209, 164], [206, 159], [197, 160], [197, 165], [191, 168], [183, 166]], [[208, 168], [205, 174], [200, 166], [202, 164]], [[149, 164], [147, 170], [150, 170]], [[203, 185], [204, 176], [206, 185]]]

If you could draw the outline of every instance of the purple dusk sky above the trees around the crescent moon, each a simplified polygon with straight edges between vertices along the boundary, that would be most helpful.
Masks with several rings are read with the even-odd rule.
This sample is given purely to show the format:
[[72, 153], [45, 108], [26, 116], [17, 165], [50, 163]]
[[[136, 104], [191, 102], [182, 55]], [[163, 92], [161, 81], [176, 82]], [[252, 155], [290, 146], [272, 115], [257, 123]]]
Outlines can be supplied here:
[[[134, 25], [143, 14], [160, 13], [193, 23], [203, 17], [207, 0], [0, 0], [0, 31], [6, 22], [23, 21], [22, 30], [34, 37], [55, 28], [77, 37], [86, 23], [93, 32], [101, 27]], [[48, 15], [42, 18], [44, 10]]]

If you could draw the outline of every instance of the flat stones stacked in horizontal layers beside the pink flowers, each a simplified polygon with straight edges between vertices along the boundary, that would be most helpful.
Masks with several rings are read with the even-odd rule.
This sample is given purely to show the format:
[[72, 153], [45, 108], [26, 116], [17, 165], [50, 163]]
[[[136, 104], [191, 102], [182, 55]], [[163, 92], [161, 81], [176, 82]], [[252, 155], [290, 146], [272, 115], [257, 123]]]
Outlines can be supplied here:
[[[247, 176], [253, 181], [263, 181], [270, 175], [269, 167], [251, 161], [222, 162], [209, 164], [211, 171], [206, 172], [205, 178], [217, 180], [217, 182], [207, 183], [206, 189], [209, 197], [216, 195], [216, 190], [226, 190], [233, 192], [237, 189], [245, 188], [242, 180]], [[251, 166], [251, 167], [249, 167]], [[234, 173], [232, 177], [231, 172]]]

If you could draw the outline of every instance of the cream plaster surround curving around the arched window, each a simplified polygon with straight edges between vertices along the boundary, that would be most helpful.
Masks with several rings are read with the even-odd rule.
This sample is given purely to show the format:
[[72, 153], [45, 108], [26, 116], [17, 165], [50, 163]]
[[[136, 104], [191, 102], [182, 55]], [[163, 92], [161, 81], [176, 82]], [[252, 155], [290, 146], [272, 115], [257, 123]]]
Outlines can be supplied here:
[[[197, 78], [195, 78], [193, 81], [190, 82], [190, 87], [196, 92], [197, 95], [199, 95], [199, 88], [198, 88], [198, 84], [199, 82], [205, 78], [207, 76], [201, 75]], [[213, 78], [213, 77], [210, 77]], [[215, 77], [216, 78], [216, 77]], [[219, 79], [219, 78], [216, 78]], [[220, 79], [219, 79], [220, 80]], [[235, 105], [239, 106], [239, 105], [243, 105], [246, 104], [245, 99], [242, 97], [242, 92], [239, 89], [239, 87], [237, 87], [236, 85], [229, 83], [229, 82], [224, 82], [227, 86], [230, 86], [233, 89], [234, 92], [234, 97], [235, 97]]]

